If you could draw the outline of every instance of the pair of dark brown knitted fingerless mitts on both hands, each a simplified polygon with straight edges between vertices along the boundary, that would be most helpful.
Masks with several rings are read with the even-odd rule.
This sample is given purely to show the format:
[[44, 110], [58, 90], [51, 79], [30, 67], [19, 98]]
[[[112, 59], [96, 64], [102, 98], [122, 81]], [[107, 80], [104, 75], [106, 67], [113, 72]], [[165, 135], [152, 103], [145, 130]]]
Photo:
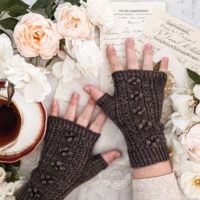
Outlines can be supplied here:
[[[115, 92], [97, 105], [123, 133], [131, 167], [141, 168], [169, 159], [161, 124], [164, 72], [127, 70], [112, 74]], [[17, 200], [62, 200], [96, 176], [108, 164], [92, 155], [100, 134], [74, 122], [50, 116], [38, 167]]]

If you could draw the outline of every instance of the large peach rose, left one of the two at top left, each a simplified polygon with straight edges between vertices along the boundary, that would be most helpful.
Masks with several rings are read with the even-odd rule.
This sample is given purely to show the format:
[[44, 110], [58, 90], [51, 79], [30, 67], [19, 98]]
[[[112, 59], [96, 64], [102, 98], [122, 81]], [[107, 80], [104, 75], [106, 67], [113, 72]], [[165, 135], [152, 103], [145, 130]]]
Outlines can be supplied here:
[[59, 50], [60, 35], [55, 24], [36, 13], [24, 15], [13, 36], [18, 51], [24, 57], [51, 59]]

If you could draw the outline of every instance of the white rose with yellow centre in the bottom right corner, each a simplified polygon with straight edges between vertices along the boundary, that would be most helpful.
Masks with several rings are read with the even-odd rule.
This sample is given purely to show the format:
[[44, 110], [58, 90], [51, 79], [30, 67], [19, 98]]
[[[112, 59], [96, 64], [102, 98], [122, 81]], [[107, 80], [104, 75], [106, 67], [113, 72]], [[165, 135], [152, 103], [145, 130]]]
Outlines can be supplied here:
[[200, 197], [200, 165], [190, 162], [190, 170], [180, 177], [180, 186], [188, 198]]

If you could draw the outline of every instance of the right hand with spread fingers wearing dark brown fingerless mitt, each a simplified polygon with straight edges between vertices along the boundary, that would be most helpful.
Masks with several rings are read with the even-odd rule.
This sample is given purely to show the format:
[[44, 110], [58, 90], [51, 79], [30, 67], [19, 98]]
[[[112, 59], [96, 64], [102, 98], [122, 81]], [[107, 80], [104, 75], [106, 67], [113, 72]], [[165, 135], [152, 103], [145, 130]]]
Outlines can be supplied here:
[[[153, 47], [146, 44], [143, 64], [139, 66], [133, 38], [126, 41], [126, 56], [126, 66], [123, 67], [115, 48], [108, 45], [107, 57], [113, 72], [114, 96], [92, 85], [86, 85], [84, 90], [121, 129], [127, 142], [131, 166], [138, 174], [149, 166], [151, 170], [152, 166], [156, 167], [153, 173], [147, 170], [149, 176], [169, 173], [169, 155], [160, 122], [168, 58], [162, 59], [159, 72], [153, 71]], [[162, 163], [161, 167], [158, 163]], [[166, 168], [163, 168], [163, 163]], [[164, 170], [159, 171], [158, 168]], [[141, 178], [141, 174], [134, 175]]]

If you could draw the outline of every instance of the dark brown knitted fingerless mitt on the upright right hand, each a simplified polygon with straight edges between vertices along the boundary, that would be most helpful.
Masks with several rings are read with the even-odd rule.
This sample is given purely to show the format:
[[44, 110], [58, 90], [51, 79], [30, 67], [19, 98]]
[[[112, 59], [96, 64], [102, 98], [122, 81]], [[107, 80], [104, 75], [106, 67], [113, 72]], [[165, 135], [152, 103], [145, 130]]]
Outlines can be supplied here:
[[167, 75], [164, 72], [127, 70], [112, 74], [115, 93], [97, 104], [121, 129], [131, 166], [148, 166], [169, 159], [160, 122]]

